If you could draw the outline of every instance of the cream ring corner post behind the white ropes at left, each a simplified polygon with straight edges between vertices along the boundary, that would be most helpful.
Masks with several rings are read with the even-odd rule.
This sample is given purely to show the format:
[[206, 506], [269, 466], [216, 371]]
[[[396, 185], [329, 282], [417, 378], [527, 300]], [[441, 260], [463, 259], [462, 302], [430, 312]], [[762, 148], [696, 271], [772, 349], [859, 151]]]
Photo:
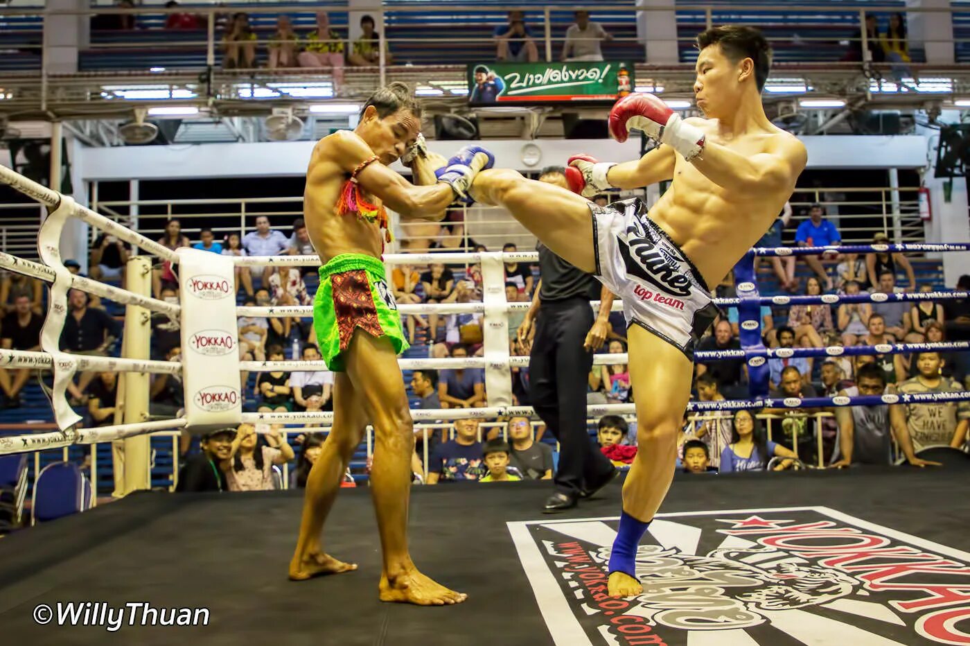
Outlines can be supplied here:
[[[148, 256], [133, 256], [128, 260], [125, 272], [125, 289], [142, 296], [151, 295], [151, 262]], [[145, 307], [125, 306], [124, 338], [126, 359], [147, 359], [151, 353], [151, 316]], [[148, 416], [147, 372], [124, 374], [124, 422], [141, 424]], [[124, 439], [124, 489], [122, 495], [151, 488], [149, 457], [151, 453], [148, 435]]]

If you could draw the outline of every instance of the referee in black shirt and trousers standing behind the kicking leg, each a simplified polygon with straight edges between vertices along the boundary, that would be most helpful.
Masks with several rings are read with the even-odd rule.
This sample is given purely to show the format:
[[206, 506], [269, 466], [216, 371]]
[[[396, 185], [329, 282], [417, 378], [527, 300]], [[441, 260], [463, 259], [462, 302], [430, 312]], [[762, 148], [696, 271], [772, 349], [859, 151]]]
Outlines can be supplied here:
[[[543, 169], [539, 181], [568, 188], [560, 166]], [[586, 429], [586, 389], [593, 351], [609, 332], [613, 294], [605, 286], [601, 288], [601, 305], [594, 320], [590, 299], [596, 298], [598, 280], [541, 242], [535, 248], [539, 252], [539, 286], [518, 335], [528, 346], [534, 322], [529, 395], [535, 412], [560, 444], [559, 467], [553, 477], [556, 492], [544, 508], [555, 512], [576, 506], [579, 498], [592, 496], [616, 474]]]

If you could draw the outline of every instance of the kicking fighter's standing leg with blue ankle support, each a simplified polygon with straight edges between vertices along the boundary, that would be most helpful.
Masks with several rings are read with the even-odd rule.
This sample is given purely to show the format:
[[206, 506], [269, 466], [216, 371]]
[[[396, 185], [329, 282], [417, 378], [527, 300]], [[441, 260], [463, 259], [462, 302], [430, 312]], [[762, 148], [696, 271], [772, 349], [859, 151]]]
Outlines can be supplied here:
[[610, 557], [608, 592], [618, 597], [643, 592], [631, 576], [636, 544], [642, 525], [653, 520], [673, 480], [677, 434], [691, 399], [694, 372], [694, 364], [680, 349], [639, 325], [630, 326], [629, 339], [637, 451], [623, 485], [624, 517]]

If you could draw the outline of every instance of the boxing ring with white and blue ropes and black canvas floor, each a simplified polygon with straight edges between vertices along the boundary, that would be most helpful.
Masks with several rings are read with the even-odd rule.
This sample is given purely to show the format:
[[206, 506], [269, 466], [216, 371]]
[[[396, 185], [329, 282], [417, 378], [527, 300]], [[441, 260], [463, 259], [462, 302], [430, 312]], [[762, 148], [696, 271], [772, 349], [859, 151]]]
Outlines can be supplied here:
[[[49, 369], [51, 405], [59, 431], [0, 437], [0, 454], [114, 441], [122, 493], [148, 488], [147, 436], [190, 427], [185, 416], [147, 418], [147, 375], [182, 374], [183, 364], [149, 361], [148, 312], [184, 320], [185, 304], [149, 296], [146, 256], [128, 267], [126, 290], [71, 275], [58, 252], [68, 218], [129, 242], [178, 266], [184, 259], [156, 242], [0, 167], [0, 181], [46, 205], [39, 234], [42, 263], [0, 254], [0, 267], [50, 284], [42, 352], [0, 350], [0, 368]], [[970, 250], [970, 244], [890, 245], [892, 251]], [[766, 360], [962, 351], [967, 342], [855, 347], [776, 348], [760, 345], [760, 306], [859, 302], [946, 301], [962, 292], [857, 296], [761, 297], [752, 273], [756, 255], [831, 251], [866, 252], [873, 245], [753, 249], [738, 267], [742, 348], [696, 353], [698, 361], [743, 358], [749, 399], [692, 402], [698, 414], [747, 408], [796, 410], [970, 399], [970, 393], [876, 397], [764, 397]], [[401, 314], [484, 315], [484, 356], [401, 359], [403, 370], [480, 368], [489, 406], [413, 410], [419, 423], [532, 414], [513, 406], [509, 369], [528, 366], [508, 348], [506, 314], [529, 304], [504, 300], [503, 261], [532, 262], [534, 253], [388, 254], [387, 264], [478, 262], [481, 303], [401, 305]], [[244, 257], [244, 267], [318, 266], [315, 256]], [[81, 289], [125, 304], [120, 358], [61, 352], [67, 291]], [[130, 291], [129, 291], [130, 290]], [[614, 304], [619, 308], [619, 304]], [[238, 316], [310, 317], [312, 307], [236, 307]], [[627, 363], [626, 354], [601, 354], [596, 365]], [[323, 362], [240, 362], [243, 371], [323, 370]], [[77, 371], [124, 373], [121, 422], [80, 429], [67, 383]], [[189, 393], [186, 392], [186, 396]], [[648, 397], [638, 394], [637, 397]], [[631, 414], [634, 404], [595, 404], [588, 415]], [[326, 429], [329, 412], [250, 413], [242, 422], [313, 424]], [[434, 425], [431, 425], [434, 426]], [[430, 428], [430, 427], [429, 427]], [[191, 429], [189, 428], [191, 431]], [[300, 429], [304, 431], [305, 429]], [[316, 429], [307, 429], [316, 430]], [[295, 430], [293, 431], [296, 432]], [[118, 440], [123, 440], [122, 445]], [[821, 432], [818, 441], [821, 445]], [[371, 436], [368, 436], [370, 449]], [[427, 446], [427, 442], [425, 443]], [[370, 453], [370, 450], [369, 450]], [[932, 451], [930, 452], [933, 453]], [[81, 514], [14, 533], [0, 541], [0, 617], [6, 633], [42, 642], [101, 643], [104, 632], [123, 631], [136, 643], [193, 638], [212, 643], [254, 635], [284, 643], [458, 644], [486, 632], [508, 644], [968, 644], [970, 554], [965, 548], [970, 501], [954, 494], [965, 486], [966, 461], [949, 450], [929, 455], [945, 467], [805, 469], [730, 476], [678, 474], [638, 556], [644, 595], [604, 595], [604, 550], [615, 535], [619, 485], [561, 515], [541, 516], [543, 482], [412, 488], [410, 540], [414, 561], [445, 585], [469, 594], [455, 607], [422, 609], [381, 604], [375, 595], [379, 541], [364, 491], [341, 493], [326, 532], [327, 550], [360, 564], [356, 573], [311, 582], [286, 580], [300, 518], [301, 492], [234, 495], [127, 496]], [[427, 464], [427, 454], [423, 456]], [[645, 572], [645, 573], [644, 573]], [[186, 574], [189, 578], [188, 580]], [[510, 602], [511, 601], [511, 602]], [[84, 605], [84, 604], [87, 605]], [[58, 618], [61, 608], [66, 620]], [[55, 614], [45, 621], [47, 607]], [[134, 607], [133, 607], [134, 606]], [[205, 622], [166, 625], [165, 612], [192, 611]], [[113, 610], [125, 621], [114, 626]], [[157, 613], [161, 610], [162, 621]], [[501, 621], [497, 616], [501, 613]], [[127, 620], [130, 618], [130, 622]], [[194, 621], [194, 620], [193, 620]], [[68, 626], [67, 624], [73, 624]], [[70, 632], [67, 632], [70, 630]], [[54, 636], [56, 634], [56, 636]]]

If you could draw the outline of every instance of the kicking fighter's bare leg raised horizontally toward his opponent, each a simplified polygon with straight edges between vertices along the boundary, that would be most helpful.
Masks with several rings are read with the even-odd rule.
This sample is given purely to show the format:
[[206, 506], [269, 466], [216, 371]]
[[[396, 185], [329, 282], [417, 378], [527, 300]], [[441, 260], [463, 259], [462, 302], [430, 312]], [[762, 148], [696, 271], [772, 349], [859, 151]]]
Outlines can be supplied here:
[[596, 273], [593, 215], [585, 198], [506, 169], [479, 173], [469, 195], [480, 204], [504, 207], [560, 258]]

